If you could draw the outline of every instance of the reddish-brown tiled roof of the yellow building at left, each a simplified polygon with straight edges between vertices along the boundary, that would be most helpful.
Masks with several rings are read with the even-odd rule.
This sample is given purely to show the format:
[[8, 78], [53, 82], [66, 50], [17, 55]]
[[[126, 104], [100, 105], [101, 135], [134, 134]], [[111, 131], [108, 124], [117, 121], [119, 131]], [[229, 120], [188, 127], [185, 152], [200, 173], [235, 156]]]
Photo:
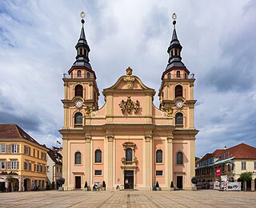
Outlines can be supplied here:
[[17, 124], [0, 124], [0, 139], [26, 139], [30, 142], [41, 145], [23, 131], [22, 128], [18, 127]]

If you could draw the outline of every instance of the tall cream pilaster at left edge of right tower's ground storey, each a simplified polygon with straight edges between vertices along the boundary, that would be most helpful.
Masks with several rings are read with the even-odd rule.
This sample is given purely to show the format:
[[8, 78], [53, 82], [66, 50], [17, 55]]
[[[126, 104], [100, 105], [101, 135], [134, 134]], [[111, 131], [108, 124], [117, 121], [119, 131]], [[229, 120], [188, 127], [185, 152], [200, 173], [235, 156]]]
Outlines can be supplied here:
[[170, 187], [170, 182], [174, 181], [174, 153], [173, 153], [173, 139], [174, 135], [170, 135], [167, 137], [167, 166], [166, 166], [166, 173], [167, 173], [167, 184]]

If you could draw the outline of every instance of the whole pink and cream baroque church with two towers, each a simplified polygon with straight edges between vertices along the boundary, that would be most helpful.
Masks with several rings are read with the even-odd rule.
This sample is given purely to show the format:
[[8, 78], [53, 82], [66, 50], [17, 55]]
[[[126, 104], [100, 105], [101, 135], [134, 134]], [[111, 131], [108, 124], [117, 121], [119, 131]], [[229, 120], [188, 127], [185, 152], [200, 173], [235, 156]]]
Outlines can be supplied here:
[[159, 109], [153, 103], [154, 89], [133, 76], [130, 68], [103, 90], [106, 104], [98, 109], [99, 90], [83, 23], [75, 46], [76, 61], [63, 77], [64, 190], [103, 181], [106, 190], [117, 186], [152, 190], [156, 182], [169, 190], [171, 181], [179, 189], [191, 190], [198, 133], [194, 128], [195, 79], [182, 63], [176, 22], [158, 92]]

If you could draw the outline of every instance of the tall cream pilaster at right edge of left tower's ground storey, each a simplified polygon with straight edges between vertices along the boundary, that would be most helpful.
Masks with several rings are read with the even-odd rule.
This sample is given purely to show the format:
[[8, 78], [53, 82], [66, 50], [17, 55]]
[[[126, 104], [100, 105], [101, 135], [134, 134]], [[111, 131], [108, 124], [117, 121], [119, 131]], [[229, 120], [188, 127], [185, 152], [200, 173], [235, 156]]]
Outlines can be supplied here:
[[88, 182], [88, 186], [92, 185], [91, 177], [91, 166], [90, 166], [90, 143], [91, 143], [91, 135], [86, 135], [86, 154], [84, 158], [84, 164], [85, 164], [85, 179]]

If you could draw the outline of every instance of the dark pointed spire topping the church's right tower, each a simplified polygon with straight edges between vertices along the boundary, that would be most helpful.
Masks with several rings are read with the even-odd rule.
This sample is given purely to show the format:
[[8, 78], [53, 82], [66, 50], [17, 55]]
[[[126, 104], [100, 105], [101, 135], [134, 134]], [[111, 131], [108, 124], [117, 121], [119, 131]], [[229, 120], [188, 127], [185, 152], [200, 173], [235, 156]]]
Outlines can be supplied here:
[[170, 46], [167, 49], [167, 53], [169, 54], [169, 60], [168, 60], [168, 65], [166, 67], [166, 70], [176, 66], [176, 67], [183, 67], [184, 64], [182, 63], [182, 57], [181, 57], [181, 52], [182, 52], [182, 45], [178, 41], [178, 36], [176, 33], [176, 18], [177, 15], [174, 13], [172, 15], [173, 18], [173, 25], [174, 25], [174, 31], [173, 31], [173, 36], [170, 41]]

